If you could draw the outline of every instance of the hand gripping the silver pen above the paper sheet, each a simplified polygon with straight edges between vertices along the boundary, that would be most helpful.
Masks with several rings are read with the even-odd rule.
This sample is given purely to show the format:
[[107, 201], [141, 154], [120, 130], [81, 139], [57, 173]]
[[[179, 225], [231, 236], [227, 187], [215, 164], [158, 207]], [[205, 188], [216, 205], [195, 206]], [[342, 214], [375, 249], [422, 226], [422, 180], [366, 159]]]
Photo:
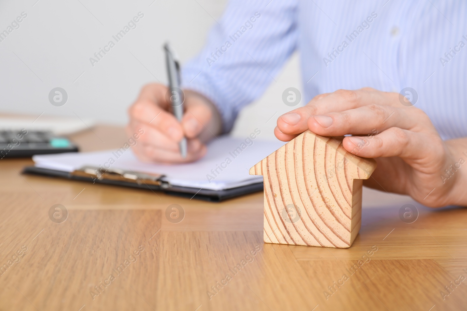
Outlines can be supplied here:
[[[172, 100], [177, 98], [170, 98], [173, 95], [180, 95], [182, 100], [184, 97], [181, 120], [174, 115]], [[144, 162], [196, 161], [205, 155], [205, 143], [221, 131], [219, 112], [207, 98], [190, 90], [174, 94], [160, 83], [144, 86], [128, 114], [127, 135], [132, 136], [138, 129], [144, 131], [132, 147], [138, 159]], [[180, 148], [184, 138], [185, 158]]]

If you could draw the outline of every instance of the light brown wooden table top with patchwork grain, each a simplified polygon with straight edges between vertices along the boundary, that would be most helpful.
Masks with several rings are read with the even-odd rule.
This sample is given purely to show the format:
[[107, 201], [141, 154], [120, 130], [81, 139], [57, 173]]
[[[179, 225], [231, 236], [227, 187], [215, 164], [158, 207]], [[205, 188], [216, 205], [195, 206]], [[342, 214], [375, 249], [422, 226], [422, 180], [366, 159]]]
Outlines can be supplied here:
[[[126, 138], [98, 126], [71, 139], [91, 151]], [[351, 248], [277, 245], [262, 241], [262, 193], [210, 203], [21, 174], [31, 164], [0, 160], [0, 310], [466, 308], [465, 208], [364, 189]], [[54, 204], [66, 221], [51, 221]], [[402, 221], [404, 204], [416, 221]]]

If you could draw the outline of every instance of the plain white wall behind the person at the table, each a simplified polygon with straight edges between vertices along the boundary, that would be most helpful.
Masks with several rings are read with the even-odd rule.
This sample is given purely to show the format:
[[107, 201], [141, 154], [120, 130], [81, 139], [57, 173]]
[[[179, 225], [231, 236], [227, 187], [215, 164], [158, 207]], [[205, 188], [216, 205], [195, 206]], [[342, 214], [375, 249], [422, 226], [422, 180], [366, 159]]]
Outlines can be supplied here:
[[[166, 83], [163, 42], [170, 39], [185, 62], [201, 49], [225, 5], [226, 0], [0, 0], [0, 32], [21, 12], [28, 14], [0, 42], [0, 113], [125, 124], [127, 107], [142, 85]], [[140, 11], [144, 17], [137, 27], [92, 67], [89, 58]], [[277, 83], [241, 111], [233, 135], [259, 127], [262, 138], [274, 138], [277, 117], [291, 110], [282, 102], [283, 90], [302, 89], [298, 67], [294, 55]], [[55, 87], [68, 93], [64, 106], [48, 100]]]

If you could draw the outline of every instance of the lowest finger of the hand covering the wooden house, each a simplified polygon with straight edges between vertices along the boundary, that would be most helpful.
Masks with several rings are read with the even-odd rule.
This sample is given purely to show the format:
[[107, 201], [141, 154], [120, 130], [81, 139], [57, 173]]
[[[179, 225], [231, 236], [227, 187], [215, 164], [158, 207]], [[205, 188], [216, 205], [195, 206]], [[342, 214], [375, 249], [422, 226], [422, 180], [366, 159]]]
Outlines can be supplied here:
[[348, 152], [364, 158], [423, 159], [426, 152], [439, 146], [439, 142], [425, 133], [391, 127], [374, 136], [346, 137], [342, 145]]

